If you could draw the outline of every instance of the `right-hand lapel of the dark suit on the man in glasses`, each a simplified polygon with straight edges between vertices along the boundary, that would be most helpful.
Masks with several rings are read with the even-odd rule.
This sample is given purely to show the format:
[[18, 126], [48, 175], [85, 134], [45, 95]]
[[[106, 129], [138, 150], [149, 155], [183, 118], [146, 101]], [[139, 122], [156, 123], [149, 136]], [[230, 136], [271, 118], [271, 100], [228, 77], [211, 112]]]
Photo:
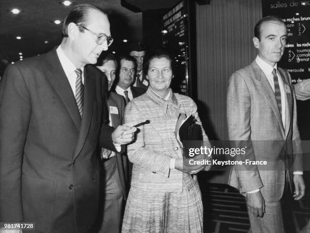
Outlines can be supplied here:
[[84, 101], [83, 101], [83, 117], [80, 129], [80, 136], [78, 144], [75, 148], [74, 158], [81, 152], [90, 127], [91, 119], [94, 111], [94, 98], [95, 98], [95, 80], [93, 73], [85, 66], [84, 69]]

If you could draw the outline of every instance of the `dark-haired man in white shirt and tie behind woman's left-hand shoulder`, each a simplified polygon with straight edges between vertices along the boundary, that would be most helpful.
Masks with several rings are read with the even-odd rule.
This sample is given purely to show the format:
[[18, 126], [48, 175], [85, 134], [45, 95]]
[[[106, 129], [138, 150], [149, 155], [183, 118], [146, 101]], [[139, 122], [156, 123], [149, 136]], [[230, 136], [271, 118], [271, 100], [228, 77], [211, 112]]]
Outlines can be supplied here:
[[145, 93], [145, 90], [138, 87], [132, 87], [134, 76], [137, 70], [136, 60], [129, 55], [119, 57], [120, 67], [118, 68], [118, 84], [115, 92], [124, 96], [126, 102]]

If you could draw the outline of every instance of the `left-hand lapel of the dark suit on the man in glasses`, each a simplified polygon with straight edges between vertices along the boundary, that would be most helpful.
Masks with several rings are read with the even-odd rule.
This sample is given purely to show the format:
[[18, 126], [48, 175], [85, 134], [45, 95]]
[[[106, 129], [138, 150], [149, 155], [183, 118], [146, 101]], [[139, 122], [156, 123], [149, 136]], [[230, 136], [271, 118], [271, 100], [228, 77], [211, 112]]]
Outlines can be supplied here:
[[59, 95], [60, 99], [64, 103], [70, 117], [72, 118], [75, 126], [80, 129], [81, 117], [78, 106], [76, 105], [75, 97], [72, 92], [71, 86], [67, 79], [67, 76], [61, 66], [58, 59], [56, 49], [52, 50], [48, 57], [51, 61], [51, 71], [49, 72], [49, 80], [54, 87], [54, 90]]

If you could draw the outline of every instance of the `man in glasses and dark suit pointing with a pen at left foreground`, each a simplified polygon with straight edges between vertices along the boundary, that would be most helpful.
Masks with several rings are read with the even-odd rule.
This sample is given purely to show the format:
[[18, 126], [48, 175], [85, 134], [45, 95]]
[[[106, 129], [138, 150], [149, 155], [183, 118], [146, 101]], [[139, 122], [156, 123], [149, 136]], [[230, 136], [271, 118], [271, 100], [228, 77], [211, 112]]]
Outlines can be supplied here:
[[136, 130], [102, 124], [106, 84], [87, 64], [112, 43], [109, 27], [97, 7], [76, 5], [57, 49], [8, 66], [0, 84], [0, 222], [33, 222], [33, 232], [92, 227], [98, 141], [119, 150]]

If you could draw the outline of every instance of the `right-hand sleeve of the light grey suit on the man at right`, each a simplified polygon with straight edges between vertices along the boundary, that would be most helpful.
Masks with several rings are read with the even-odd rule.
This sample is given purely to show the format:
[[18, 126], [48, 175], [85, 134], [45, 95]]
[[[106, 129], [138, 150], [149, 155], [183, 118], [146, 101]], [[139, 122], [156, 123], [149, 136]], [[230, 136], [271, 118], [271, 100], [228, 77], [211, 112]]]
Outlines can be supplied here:
[[293, 94], [293, 132], [292, 132], [292, 140], [293, 140], [293, 154], [294, 154], [294, 161], [293, 161], [293, 171], [303, 171], [302, 166], [302, 147], [301, 147], [301, 140], [297, 125], [297, 105], [296, 105], [296, 95], [294, 85], [292, 84], [291, 76], [289, 75], [289, 83], [291, 84], [291, 90]]

